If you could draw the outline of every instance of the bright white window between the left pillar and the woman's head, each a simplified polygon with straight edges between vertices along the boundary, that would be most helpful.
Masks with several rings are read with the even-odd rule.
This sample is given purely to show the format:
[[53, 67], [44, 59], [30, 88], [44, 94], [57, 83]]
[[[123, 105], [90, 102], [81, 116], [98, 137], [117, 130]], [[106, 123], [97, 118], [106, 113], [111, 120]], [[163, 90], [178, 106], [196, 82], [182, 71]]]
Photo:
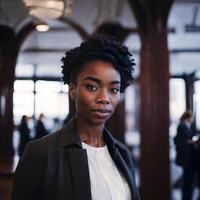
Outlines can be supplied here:
[[[60, 81], [16, 80], [14, 83], [14, 123], [22, 115], [37, 117], [43, 113], [49, 131], [54, 130], [55, 119], [60, 122], [69, 112], [68, 87]], [[62, 124], [62, 122], [61, 122]]]

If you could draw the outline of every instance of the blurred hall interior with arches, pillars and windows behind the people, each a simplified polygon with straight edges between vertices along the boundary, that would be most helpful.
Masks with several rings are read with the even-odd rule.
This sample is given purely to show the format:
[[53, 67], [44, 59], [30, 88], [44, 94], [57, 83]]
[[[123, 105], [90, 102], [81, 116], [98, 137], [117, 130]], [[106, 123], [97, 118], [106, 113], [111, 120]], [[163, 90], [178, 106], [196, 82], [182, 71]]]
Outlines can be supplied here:
[[37, 137], [39, 118], [45, 134], [69, 120], [60, 60], [96, 33], [117, 37], [136, 62], [107, 126], [132, 152], [142, 200], [181, 199], [173, 139], [185, 110], [200, 130], [200, 1], [0, 0], [1, 200], [20, 157], [22, 116], [27, 141]]

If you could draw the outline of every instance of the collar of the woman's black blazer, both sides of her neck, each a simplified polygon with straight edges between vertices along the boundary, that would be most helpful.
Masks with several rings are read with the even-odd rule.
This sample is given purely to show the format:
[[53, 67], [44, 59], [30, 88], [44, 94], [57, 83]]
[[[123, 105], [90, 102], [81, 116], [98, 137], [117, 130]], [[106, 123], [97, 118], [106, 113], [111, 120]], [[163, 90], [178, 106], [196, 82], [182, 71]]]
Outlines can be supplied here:
[[[110, 147], [115, 147], [118, 141], [111, 135], [111, 133], [105, 128], [103, 132], [105, 142]], [[61, 146], [76, 145], [82, 148], [81, 138], [76, 126], [76, 119], [72, 119], [61, 129]]]

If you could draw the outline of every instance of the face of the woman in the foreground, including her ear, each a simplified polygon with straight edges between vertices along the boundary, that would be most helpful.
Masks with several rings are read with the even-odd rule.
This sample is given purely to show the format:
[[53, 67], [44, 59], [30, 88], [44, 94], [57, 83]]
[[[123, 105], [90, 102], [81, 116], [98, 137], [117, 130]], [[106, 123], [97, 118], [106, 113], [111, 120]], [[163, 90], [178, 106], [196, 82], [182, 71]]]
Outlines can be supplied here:
[[76, 84], [69, 87], [78, 119], [91, 125], [104, 124], [120, 101], [120, 81], [119, 72], [110, 62], [86, 64]]

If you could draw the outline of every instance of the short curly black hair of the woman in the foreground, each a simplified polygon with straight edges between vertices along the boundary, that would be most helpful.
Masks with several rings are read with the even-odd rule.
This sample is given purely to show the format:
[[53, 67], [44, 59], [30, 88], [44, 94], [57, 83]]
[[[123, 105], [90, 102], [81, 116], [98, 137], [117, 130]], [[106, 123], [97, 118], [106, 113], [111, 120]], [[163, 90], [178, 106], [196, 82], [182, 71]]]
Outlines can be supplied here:
[[112, 63], [120, 73], [120, 92], [124, 92], [126, 87], [134, 80], [133, 66], [135, 62], [128, 48], [114, 37], [95, 35], [82, 42], [79, 47], [67, 51], [65, 56], [62, 57], [63, 65], [61, 67], [64, 84], [75, 83], [84, 66], [97, 60]]

